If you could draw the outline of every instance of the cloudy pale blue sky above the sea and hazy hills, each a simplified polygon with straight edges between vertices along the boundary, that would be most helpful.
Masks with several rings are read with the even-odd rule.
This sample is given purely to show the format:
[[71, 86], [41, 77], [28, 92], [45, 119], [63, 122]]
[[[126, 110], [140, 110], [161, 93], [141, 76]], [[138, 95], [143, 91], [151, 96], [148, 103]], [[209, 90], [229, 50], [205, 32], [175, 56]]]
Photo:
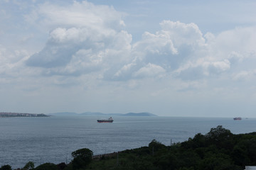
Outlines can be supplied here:
[[0, 112], [255, 118], [256, 1], [0, 1]]

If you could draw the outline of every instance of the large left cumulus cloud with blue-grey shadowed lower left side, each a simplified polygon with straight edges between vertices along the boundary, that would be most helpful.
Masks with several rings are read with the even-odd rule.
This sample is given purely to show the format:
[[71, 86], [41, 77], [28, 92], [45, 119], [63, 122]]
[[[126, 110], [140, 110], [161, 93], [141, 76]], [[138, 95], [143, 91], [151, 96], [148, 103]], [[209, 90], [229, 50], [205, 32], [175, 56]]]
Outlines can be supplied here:
[[41, 22], [61, 27], [50, 32], [46, 46], [27, 60], [28, 66], [46, 68], [48, 75], [80, 75], [127, 60], [132, 35], [119, 29], [124, 26], [122, 15], [114, 8], [75, 1], [71, 8], [44, 4], [38, 13], [45, 14]]

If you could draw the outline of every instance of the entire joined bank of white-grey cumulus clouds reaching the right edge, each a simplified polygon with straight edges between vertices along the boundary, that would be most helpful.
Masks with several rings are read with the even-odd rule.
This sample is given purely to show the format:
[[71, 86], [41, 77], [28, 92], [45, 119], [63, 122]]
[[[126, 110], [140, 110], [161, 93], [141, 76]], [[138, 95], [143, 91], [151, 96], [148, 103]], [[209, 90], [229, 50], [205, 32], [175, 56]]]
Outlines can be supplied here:
[[123, 14], [110, 6], [87, 1], [71, 6], [46, 3], [33, 13], [38, 17], [32, 21], [53, 29], [43, 50], [31, 55], [26, 65], [40, 67], [48, 76], [97, 72], [107, 81], [206, 79], [229, 71], [239, 75], [245, 65], [252, 67], [256, 54], [254, 27], [203, 35], [196, 23], [166, 20], [156, 33], [145, 31], [142, 40], [132, 44]]

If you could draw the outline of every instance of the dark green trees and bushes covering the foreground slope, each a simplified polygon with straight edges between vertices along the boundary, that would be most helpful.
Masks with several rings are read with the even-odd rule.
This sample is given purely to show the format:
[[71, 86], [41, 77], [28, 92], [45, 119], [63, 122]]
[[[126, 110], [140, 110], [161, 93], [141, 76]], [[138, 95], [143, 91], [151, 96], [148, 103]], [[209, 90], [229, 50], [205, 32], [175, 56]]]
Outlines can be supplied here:
[[[230, 130], [218, 126], [206, 135], [198, 133], [185, 142], [171, 146], [152, 140], [148, 147], [128, 149], [99, 158], [90, 149], [78, 149], [72, 153], [70, 164], [41, 164], [36, 168], [28, 162], [23, 169], [76, 170], [76, 169], [174, 169], [174, 170], [242, 170], [256, 165], [256, 132], [233, 135]], [[11, 170], [1, 166], [0, 170]]]

